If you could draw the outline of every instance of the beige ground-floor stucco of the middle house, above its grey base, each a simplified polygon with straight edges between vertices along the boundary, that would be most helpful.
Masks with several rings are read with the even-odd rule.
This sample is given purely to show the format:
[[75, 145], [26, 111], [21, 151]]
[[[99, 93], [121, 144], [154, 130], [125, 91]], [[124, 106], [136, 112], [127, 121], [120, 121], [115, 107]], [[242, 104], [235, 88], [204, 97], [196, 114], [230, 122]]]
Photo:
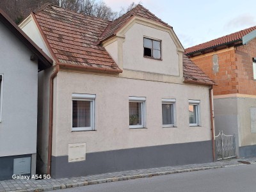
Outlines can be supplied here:
[[[90, 153], [211, 140], [207, 87], [62, 71], [55, 86], [53, 156], [67, 155], [70, 143]], [[72, 132], [72, 93], [96, 95], [96, 131]], [[146, 97], [146, 129], [129, 129], [129, 96]], [[163, 128], [162, 99], [176, 99], [177, 127]], [[200, 100], [200, 127], [189, 127], [189, 99]]]

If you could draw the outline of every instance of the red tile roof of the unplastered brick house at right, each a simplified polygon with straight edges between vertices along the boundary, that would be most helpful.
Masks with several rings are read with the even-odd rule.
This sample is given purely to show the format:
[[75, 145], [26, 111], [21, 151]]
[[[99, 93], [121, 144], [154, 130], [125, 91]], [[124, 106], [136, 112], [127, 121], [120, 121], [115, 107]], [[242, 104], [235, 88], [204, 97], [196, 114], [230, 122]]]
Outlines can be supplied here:
[[210, 49], [211, 47], [228, 44], [228, 43], [234, 42], [236, 40], [242, 40], [244, 35], [247, 35], [248, 33], [254, 31], [255, 29], [256, 29], [256, 26], [254, 26], [252, 28], [248, 28], [248, 29], [243, 29], [241, 31], [237, 31], [236, 33], [232, 33], [230, 35], [221, 36], [220, 38], [216, 38], [209, 42], [205, 42], [204, 44], [199, 44], [199, 45], [195, 45], [193, 47], [189, 47], [188, 49], [185, 50], [185, 53], [188, 55], [192, 52]]

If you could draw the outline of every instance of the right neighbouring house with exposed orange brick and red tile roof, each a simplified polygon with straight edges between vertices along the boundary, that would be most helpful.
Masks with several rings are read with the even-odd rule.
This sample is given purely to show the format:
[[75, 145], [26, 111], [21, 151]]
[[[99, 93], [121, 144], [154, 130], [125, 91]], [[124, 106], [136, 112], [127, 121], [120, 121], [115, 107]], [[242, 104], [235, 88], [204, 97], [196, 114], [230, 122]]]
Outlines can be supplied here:
[[256, 26], [186, 49], [214, 86], [216, 134], [235, 134], [237, 156], [256, 155]]

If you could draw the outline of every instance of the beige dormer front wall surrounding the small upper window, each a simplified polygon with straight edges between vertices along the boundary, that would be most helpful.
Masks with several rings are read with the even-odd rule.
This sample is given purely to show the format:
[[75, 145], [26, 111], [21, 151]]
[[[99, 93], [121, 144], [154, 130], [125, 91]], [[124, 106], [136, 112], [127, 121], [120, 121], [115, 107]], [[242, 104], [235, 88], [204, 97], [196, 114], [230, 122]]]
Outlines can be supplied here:
[[[161, 40], [161, 60], [143, 57], [143, 37]], [[179, 76], [177, 46], [167, 31], [134, 24], [125, 33], [123, 44], [124, 68]]]

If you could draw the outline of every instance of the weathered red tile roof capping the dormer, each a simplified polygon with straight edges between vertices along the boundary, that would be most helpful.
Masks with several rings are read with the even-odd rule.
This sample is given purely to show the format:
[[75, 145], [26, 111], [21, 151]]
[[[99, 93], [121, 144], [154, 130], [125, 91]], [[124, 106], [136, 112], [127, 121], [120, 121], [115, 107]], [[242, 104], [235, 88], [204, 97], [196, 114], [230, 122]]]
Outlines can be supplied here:
[[157, 18], [156, 15], [149, 12], [141, 4], [138, 4], [131, 11], [125, 13], [118, 19], [113, 20], [113, 22], [110, 22], [106, 30], [102, 33], [102, 36], [100, 37], [100, 41], [106, 40], [107, 38], [113, 35], [116, 35], [119, 29], [121, 29], [125, 24], [127, 24], [127, 22], [129, 22], [129, 20], [131, 20], [132, 17], [134, 16], [142, 17], [147, 20], [153, 20], [153, 21], [159, 22], [160, 24], [163, 24], [164, 26], [167, 26], [168, 28], [172, 28], [166, 22], [163, 22], [161, 19]]

